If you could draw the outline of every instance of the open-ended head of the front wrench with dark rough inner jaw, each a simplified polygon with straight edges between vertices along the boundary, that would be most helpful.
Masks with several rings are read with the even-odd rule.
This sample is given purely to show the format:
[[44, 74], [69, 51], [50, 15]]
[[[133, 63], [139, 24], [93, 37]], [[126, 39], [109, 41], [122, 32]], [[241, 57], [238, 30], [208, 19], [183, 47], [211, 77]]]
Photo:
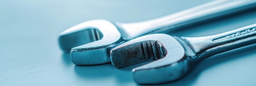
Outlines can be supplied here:
[[110, 51], [110, 58], [117, 68], [156, 60], [132, 70], [139, 84], [174, 81], [185, 76], [189, 68], [184, 48], [166, 34], [145, 35], [120, 44]]

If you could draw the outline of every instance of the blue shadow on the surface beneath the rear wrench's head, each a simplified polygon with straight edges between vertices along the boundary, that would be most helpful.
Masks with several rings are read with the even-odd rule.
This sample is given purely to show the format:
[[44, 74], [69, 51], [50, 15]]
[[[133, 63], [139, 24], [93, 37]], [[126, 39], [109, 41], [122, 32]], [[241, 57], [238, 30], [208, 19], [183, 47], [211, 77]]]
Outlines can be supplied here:
[[102, 80], [104, 78], [113, 77], [118, 85], [133, 82], [131, 70], [118, 70], [111, 63], [93, 66], [74, 66], [77, 77], [81, 79]]

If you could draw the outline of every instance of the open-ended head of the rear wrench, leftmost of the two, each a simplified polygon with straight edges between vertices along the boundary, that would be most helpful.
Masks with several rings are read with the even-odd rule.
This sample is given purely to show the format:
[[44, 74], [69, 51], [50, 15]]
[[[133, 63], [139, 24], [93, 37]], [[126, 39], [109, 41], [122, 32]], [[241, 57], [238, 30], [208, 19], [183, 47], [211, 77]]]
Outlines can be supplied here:
[[61, 49], [70, 51], [75, 65], [108, 63], [110, 50], [123, 41], [117, 27], [106, 20], [78, 24], [62, 32], [59, 37]]

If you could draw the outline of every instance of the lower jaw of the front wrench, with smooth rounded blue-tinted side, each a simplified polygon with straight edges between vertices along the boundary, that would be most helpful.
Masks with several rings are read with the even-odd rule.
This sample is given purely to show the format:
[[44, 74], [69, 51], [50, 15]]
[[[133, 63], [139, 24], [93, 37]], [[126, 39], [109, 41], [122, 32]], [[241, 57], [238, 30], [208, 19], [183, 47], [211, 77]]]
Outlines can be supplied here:
[[[160, 84], [179, 80], [190, 71], [190, 62], [186, 56], [174, 63], [154, 66], [154, 62], [132, 70], [134, 82], [138, 84]], [[157, 61], [165, 60], [160, 59]]]

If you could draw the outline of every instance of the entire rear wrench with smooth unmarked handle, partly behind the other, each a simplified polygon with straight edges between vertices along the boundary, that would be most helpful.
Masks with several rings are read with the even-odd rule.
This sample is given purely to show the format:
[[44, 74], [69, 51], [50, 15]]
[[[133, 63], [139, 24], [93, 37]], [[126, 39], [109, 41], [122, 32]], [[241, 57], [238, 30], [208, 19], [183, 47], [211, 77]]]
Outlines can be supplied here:
[[59, 42], [64, 51], [70, 51], [72, 48], [71, 58], [75, 65], [108, 63], [110, 62], [110, 50], [127, 40], [167, 29], [174, 30], [180, 26], [255, 6], [255, 0], [217, 0], [162, 18], [138, 23], [125, 24], [91, 20], [60, 33]]

